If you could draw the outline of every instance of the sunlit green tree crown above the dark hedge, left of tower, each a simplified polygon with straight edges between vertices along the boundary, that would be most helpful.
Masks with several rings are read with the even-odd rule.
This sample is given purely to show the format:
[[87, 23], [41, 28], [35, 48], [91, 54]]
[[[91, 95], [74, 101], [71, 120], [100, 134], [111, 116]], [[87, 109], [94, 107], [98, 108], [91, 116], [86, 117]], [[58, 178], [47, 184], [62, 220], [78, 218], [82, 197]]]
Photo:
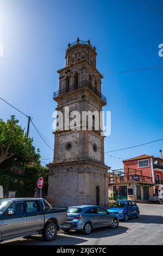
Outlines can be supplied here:
[[0, 166], [3, 169], [11, 167], [14, 159], [18, 166], [28, 162], [40, 164], [39, 149], [35, 150], [33, 139], [26, 136], [18, 122], [14, 115], [6, 122], [0, 119]]

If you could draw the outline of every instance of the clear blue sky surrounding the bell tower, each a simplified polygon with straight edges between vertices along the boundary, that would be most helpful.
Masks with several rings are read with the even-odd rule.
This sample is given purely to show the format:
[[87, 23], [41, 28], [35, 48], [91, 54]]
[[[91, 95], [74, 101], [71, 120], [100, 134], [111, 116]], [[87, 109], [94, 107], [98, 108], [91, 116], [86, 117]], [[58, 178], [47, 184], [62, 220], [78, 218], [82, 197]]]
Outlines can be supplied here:
[[[65, 66], [68, 42], [79, 36], [97, 49], [97, 69], [104, 72], [163, 64], [158, 45], [163, 43], [163, 2], [160, 0], [1, 0], [1, 97], [33, 117], [35, 125], [53, 144], [52, 112], [58, 90], [57, 70]], [[129, 74], [104, 75], [102, 92], [111, 111], [111, 135], [105, 151], [163, 137], [163, 68]], [[15, 114], [23, 127], [27, 118], [0, 101], [0, 117]], [[30, 136], [42, 159], [53, 152], [33, 126]], [[112, 153], [122, 159], [141, 154], [159, 155], [163, 142]], [[53, 148], [53, 146], [51, 145]], [[43, 160], [48, 163], [48, 160]], [[122, 160], [105, 156], [112, 168]]]

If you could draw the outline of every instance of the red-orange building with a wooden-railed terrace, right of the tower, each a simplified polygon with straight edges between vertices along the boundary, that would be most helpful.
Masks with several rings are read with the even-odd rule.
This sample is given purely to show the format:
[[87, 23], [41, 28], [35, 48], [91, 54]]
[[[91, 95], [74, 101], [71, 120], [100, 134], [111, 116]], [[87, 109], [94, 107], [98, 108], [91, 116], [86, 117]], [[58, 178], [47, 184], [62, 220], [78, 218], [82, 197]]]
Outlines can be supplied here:
[[[140, 155], [123, 160], [124, 168], [109, 174], [109, 196], [148, 202], [153, 193], [163, 195], [163, 159]], [[118, 196], [117, 196], [118, 195]]]

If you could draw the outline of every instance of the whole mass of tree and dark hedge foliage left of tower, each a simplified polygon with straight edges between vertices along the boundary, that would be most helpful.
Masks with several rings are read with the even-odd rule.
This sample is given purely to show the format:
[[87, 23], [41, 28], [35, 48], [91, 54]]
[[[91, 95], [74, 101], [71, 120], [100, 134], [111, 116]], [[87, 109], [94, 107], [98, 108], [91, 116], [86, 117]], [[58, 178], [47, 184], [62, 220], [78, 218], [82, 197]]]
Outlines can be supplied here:
[[40, 176], [45, 181], [43, 191], [47, 190], [48, 169], [41, 166], [40, 150], [33, 146], [33, 139], [14, 115], [6, 122], [0, 119], [0, 185], [5, 196], [16, 191], [16, 197], [33, 197]]

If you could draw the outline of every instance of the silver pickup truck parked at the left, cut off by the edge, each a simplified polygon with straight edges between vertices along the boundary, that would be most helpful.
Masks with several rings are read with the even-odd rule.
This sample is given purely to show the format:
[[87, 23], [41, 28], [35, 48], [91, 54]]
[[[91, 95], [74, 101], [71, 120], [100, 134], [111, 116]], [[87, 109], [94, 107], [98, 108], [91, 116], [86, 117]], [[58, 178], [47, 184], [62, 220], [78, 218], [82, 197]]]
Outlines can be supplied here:
[[0, 199], [0, 242], [40, 233], [52, 241], [66, 215], [66, 209], [52, 208], [42, 198]]

